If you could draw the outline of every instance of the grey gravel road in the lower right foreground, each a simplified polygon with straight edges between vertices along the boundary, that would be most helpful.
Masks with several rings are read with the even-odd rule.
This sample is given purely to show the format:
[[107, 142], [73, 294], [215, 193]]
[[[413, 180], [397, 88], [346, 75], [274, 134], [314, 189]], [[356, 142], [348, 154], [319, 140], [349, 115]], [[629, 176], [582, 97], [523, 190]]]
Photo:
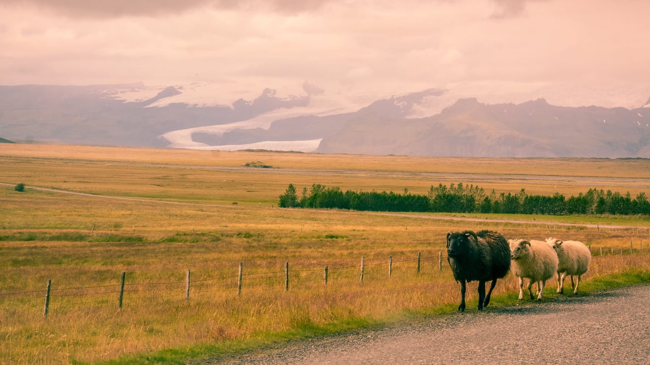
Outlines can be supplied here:
[[200, 364], [650, 364], [650, 284], [468, 308]]

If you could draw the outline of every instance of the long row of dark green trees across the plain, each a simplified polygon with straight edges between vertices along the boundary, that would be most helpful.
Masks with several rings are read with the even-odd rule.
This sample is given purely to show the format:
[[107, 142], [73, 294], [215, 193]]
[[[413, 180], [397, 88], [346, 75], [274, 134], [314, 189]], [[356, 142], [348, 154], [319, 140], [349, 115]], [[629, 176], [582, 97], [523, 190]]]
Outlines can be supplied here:
[[650, 202], [645, 193], [634, 199], [628, 192], [590, 189], [578, 196], [562, 194], [528, 195], [524, 189], [517, 194], [486, 194], [483, 188], [458, 183], [450, 186], [431, 186], [426, 195], [394, 192], [343, 192], [339, 187], [328, 188], [313, 184], [303, 188], [298, 196], [293, 184], [279, 196], [279, 207], [285, 208], [339, 208], [388, 212], [450, 212], [502, 214], [650, 214]]

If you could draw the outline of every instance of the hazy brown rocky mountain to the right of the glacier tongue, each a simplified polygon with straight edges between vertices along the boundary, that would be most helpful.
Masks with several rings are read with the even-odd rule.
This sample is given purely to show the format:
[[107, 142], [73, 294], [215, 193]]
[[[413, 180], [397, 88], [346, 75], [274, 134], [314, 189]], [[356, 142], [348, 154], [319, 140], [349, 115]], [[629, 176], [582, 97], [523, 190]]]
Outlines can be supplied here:
[[[646, 115], [647, 114], [647, 115]], [[322, 153], [457, 157], [650, 158], [650, 109], [485, 105], [461, 99], [428, 118], [367, 110], [324, 138]]]

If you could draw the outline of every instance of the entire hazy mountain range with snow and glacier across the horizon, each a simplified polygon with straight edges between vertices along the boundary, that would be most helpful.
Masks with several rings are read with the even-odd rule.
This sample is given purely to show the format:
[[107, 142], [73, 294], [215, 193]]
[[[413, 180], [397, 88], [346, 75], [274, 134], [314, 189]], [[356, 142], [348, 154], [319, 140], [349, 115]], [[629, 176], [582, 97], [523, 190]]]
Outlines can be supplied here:
[[[304, 95], [280, 96], [267, 88], [251, 100], [207, 105], [188, 103], [182, 96], [189, 90], [182, 86], [0, 86], [0, 142], [650, 158], [650, 103], [567, 107], [538, 98], [486, 104], [476, 97], [445, 99], [446, 90], [429, 89], [342, 107], [322, 90], [304, 90]], [[439, 107], [427, 109], [430, 105]]]

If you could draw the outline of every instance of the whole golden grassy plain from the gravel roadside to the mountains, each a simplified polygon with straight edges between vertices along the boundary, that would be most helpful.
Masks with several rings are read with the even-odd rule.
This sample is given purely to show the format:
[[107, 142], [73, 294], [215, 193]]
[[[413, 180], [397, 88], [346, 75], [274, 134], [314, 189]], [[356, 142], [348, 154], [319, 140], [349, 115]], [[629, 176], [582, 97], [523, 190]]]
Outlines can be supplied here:
[[[312, 184], [426, 194], [450, 183], [635, 196], [650, 190], [650, 160], [0, 144], [0, 360], [226, 359], [286, 340], [473, 315], [476, 283], [465, 314], [455, 314], [450, 230], [590, 245], [580, 296], [650, 281], [648, 216], [278, 208], [289, 184], [298, 194]], [[555, 289], [549, 281], [544, 301], [573, 296]], [[509, 274], [486, 310], [515, 306], [517, 295]]]

